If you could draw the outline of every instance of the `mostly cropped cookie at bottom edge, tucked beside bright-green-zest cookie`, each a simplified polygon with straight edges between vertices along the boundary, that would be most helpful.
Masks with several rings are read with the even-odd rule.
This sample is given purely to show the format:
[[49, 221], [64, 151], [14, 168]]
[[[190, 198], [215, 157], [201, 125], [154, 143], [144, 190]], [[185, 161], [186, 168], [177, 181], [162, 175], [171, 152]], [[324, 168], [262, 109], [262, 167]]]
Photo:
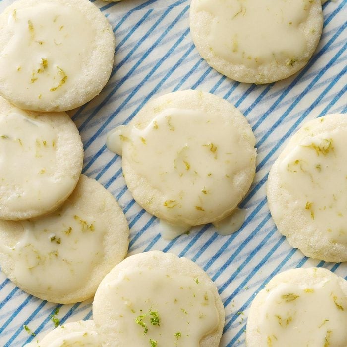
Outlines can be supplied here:
[[94, 321], [65, 323], [49, 332], [42, 340], [24, 347], [101, 347]]

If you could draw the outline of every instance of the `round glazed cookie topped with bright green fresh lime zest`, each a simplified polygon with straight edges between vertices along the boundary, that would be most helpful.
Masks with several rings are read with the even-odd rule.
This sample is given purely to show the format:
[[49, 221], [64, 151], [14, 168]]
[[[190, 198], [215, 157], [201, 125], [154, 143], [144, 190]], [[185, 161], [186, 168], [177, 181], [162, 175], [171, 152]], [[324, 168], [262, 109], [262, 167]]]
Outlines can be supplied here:
[[225, 313], [199, 266], [151, 251], [126, 258], [105, 276], [93, 317], [103, 346], [217, 347]]

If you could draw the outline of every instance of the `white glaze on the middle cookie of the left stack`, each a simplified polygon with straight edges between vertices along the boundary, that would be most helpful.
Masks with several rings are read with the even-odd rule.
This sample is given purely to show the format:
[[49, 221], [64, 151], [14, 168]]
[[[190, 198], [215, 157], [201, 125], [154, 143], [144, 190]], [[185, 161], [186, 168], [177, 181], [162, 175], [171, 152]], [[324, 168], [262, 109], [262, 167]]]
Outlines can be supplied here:
[[45, 211], [73, 189], [68, 175], [57, 184], [56, 144], [56, 130], [25, 111], [15, 108], [0, 117], [0, 192], [12, 190], [0, 199], [9, 209]]

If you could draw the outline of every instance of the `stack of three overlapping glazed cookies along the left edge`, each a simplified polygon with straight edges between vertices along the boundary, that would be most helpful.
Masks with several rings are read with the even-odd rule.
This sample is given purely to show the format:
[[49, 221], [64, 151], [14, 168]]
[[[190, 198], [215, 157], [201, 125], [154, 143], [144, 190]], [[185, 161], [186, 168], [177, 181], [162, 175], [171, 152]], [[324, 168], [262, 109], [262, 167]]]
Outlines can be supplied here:
[[41, 299], [79, 302], [125, 257], [129, 229], [81, 175], [83, 145], [63, 111], [105, 86], [115, 38], [88, 0], [16, 1], [0, 32], [1, 270]]

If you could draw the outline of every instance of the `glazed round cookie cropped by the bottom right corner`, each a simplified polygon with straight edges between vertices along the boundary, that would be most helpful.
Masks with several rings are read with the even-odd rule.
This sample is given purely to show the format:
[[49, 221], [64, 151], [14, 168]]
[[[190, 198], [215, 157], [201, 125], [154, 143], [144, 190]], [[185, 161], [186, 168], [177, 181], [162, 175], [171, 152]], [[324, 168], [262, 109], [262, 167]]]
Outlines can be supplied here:
[[252, 302], [247, 347], [347, 346], [347, 281], [323, 268], [276, 275]]

